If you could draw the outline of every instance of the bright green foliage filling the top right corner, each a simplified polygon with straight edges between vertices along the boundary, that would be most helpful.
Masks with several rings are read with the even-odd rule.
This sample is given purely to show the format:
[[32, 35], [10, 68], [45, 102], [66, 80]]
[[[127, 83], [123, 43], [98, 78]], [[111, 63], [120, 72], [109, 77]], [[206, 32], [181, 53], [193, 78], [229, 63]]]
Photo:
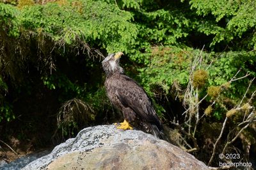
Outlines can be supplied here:
[[[256, 41], [253, 31], [256, 26], [255, 1], [192, 0], [189, 3], [191, 8], [196, 9], [198, 15], [204, 17], [213, 15], [215, 17], [211, 24], [206, 22], [200, 28], [203, 33], [215, 36], [211, 43], [212, 47], [216, 43], [224, 41], [230, 43], [242, 38], [243, 41], [239, 42], [239, 47], [255, 49]], [[221, 22], [225, 24], [221, 24]]]

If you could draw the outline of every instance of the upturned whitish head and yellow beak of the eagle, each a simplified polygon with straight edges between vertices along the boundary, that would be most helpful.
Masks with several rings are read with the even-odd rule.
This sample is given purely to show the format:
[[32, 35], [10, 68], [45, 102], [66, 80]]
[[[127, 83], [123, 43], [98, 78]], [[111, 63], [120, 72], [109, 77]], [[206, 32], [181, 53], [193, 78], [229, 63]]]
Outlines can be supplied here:
[[110, 76], [116, 72], [124, 73], [123, 68], [119, 66], [119, 59], [122, 55], [124, 55], [123, 52], [116, 52], [115, 54], [109, 54], [102, 61], [103, 70], [107, 76]]

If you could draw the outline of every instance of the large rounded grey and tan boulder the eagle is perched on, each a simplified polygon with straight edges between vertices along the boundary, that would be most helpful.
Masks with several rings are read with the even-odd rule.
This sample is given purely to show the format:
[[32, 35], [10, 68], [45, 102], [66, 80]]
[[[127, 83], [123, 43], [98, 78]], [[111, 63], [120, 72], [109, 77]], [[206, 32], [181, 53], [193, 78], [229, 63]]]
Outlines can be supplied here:
[[84, 128], [23, 169], [208, 169], [189, 153], [139, 130]]

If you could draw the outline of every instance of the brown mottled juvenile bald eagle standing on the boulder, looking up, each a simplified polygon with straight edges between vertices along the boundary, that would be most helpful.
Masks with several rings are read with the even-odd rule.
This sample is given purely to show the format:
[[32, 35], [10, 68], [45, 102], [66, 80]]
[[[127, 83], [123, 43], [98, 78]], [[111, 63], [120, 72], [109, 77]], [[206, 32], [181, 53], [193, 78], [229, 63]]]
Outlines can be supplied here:
[[[102, 66], [106, 73], [105, 88], [111, 103], [122, 111], [124, 122], [117, 128], [132, 129], [131, 125], [163, 139], [163, 125], [152, 102], [141, 86], [127, 75], [119, 66], [122, 52], [109, 54]], [[131, 125], [129, 125], [131, 123]]]

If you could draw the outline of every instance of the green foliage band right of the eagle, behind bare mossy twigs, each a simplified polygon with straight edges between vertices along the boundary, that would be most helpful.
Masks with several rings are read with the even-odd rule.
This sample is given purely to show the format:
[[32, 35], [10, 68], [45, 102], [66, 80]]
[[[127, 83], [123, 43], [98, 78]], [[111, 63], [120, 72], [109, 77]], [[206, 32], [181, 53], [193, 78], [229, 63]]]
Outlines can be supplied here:
[[[199, 54], [199, 50], [193, 49], [184, 50], [177, 47], [154, 47], [150, 58], [151, 62], [148, 63], [146, 68], [141, 69], [140, 77], [145, 86], [147, 86], [147, 89], [155, 84], [161, 86], [168, 93], [174, 81], [178, 81], [182, 86], [188, 83], [189, 66], [194, 56]], [[256, 62], [253, 56], [255, 56], [255, 52], [204, 52], [204, 63], [202, 65], [205, 68], [209, 67], [207, 70], [209, 73], [209, 85], [225, 84], [240, 68], [243, 68], [243, 71], [238, 76], [245, 75], [246, 72], [255, 76], [255, 72], [250, 70]], [[202, 75], [202, 73], [198, 75]], [[246, 83], [248, 79], [243, 81]], [[239, 84], [237, 83], [236, 87], [241, 89]], [[237, 96], [240, 97], [244, 91], [245, 89], [241, 89], [239, 94], [237, 93]]]

